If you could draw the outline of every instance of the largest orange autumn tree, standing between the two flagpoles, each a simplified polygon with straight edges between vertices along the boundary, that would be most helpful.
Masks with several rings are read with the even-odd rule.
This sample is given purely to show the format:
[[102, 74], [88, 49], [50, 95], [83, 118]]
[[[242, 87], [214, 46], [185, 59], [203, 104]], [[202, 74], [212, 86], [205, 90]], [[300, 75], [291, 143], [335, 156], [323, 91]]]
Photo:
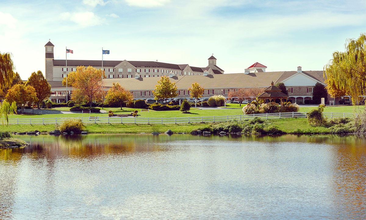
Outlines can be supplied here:
[[76, 67], [76, 72], [72, 72], [74, 77], [74, 82], [72, 87], [71, 99], [76, 103], [91, 103], [102, 101], [105, 96], [105, 91], [102, 89], [103, 81], [102, 74], [103, 71], [96, 69], [94, 67], [88, 66], [78, 66]]

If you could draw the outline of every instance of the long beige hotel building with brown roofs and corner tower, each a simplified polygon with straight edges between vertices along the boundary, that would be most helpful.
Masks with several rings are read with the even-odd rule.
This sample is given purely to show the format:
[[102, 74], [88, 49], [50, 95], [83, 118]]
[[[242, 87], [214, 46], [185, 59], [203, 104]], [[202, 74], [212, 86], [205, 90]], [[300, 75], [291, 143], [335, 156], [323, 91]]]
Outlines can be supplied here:
[[[55, 46], [49, 41], [45, 45], [45, 77], [51, 85], [51, 100], [64, 102], [66, 92], [72, 88], [64, 87], [63, 77], [77, 66], [93, 66], [105, 71], [104, 85], [106, 88], [118, 82], [122, 87], [130, 90], [134, 98], [153, 99], [160, 76], [169, 76], [178, 88], [178, 97], [190, 97], [188, 88], [197, 82], [205, 88], [203, 97], [212, 95], [227, 96], [230, 90], [241, 88], [267, 88], [273, 81], [275, 84], [283, 82], [288, 91], [288, 100], [304, 103], [313, 97], [313, 87], [316, 83], [325, 84], [323, 71], [304, 71], [298, 66], [294, 71], [266, 72], [266, 66], [254, 63], [243, 73], [225, 73], [217, 66], [217, 59], [212, 55], [208, 58], [208, 66], [194, 67], [188, 64], [172, 64], [155, 61], [127, 61], [127, 60], [56, 60], [53, 55]], [[254, 97], [253, 97], [254, 98]], [[328, 100], [335, 100], [328, 97]], [[337, 103], [337, 100], [335, 100]]]

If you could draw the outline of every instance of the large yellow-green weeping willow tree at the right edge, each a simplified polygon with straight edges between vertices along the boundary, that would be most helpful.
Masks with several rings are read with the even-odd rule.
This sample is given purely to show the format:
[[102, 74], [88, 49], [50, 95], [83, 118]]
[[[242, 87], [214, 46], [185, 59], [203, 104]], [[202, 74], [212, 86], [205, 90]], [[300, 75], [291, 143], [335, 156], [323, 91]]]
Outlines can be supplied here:
[[355, 105], [366, 95], [366, 34], [347, 39], [345, 48], [345, 52], [333, 53], [333, 59], [324, 66], [324, 78], [332, 97], [349, 95]]

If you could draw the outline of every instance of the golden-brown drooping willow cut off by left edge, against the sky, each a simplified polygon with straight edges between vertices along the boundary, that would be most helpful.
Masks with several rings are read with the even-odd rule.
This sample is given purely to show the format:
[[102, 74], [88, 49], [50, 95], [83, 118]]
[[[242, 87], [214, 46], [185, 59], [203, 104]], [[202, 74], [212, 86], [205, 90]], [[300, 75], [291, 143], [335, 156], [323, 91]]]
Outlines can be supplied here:
[[10, 87], [15, 77], [14, 64], [10, 53], [0, 53], [0, 91]]

